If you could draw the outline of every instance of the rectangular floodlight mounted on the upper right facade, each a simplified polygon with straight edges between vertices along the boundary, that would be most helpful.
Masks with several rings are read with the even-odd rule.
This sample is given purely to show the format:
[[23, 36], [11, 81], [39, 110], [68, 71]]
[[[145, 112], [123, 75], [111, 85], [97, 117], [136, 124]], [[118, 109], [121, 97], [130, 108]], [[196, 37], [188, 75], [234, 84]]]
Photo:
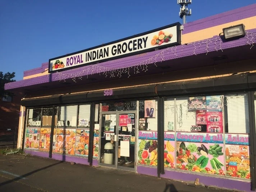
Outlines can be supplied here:
[[238, 38], [245, 36], [244, 24], [223, 28], [225, 39]]

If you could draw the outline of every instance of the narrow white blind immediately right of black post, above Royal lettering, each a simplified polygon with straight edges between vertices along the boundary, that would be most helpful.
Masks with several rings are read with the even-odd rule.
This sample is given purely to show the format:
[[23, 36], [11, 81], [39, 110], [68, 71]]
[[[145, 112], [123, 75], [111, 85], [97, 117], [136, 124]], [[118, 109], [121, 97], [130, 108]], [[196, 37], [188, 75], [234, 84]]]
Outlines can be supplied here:
[[164, 131], [169, 131], [173, 128], [174, 131], [174, 113], [175, 113], [175, 106], [174, 106], [174, 99], [164, 101]]

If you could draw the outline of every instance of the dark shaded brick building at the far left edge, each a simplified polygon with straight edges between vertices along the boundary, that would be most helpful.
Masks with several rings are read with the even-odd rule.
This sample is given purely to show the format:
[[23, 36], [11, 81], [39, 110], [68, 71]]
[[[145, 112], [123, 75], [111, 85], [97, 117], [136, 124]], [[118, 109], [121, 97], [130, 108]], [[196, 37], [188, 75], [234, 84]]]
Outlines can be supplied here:
[[15, 93], [12, 102], [0, 100], [0, 135], [14, 134], [14, 129], [18, 130], [21, 99], [22, 93]]

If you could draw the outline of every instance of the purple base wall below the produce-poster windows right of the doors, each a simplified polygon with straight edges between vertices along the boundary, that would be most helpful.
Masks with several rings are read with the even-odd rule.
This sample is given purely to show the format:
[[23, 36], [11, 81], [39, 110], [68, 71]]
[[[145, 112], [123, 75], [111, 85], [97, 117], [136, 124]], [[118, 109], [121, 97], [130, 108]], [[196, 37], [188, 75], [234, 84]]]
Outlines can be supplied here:
[[[137, 172], [140, 174], [157, 176], [157, 169], [153, 167], [137, 166]], [[231, 178], [228, 179], [224, 177], [210, 177], [206, 175], [184, 173], [166, 169], [165, 174], [161, 174], [160, 177], [189, 182], [195, 182], [196, 178], [199, 178], [199, 182], [205, 184], [206, 186], [217, 186], [229, 189], [237, 189], [241, 191], [251, 191], [250, 182]]]

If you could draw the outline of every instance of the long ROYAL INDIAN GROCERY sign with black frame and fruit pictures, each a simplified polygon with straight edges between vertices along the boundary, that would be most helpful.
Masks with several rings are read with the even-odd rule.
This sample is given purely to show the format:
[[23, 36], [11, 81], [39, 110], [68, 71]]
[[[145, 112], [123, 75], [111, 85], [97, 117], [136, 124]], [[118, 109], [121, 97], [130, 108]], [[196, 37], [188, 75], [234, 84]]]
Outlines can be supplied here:
[[180, 45], [180, 23], [49, 59], [49, 72], [62, 71]]

